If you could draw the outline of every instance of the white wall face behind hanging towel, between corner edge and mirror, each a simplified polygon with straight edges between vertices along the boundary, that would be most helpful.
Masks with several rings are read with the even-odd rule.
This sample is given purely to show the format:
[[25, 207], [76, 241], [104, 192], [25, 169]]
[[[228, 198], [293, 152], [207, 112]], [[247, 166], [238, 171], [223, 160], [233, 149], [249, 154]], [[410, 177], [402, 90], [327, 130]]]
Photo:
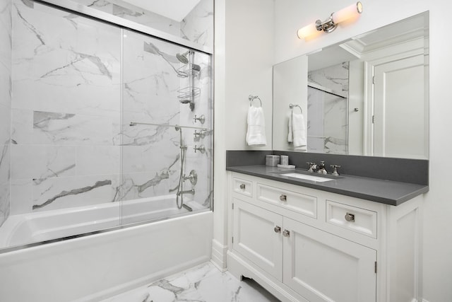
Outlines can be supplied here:
[[[225, 30], [226, 147], [272, 149], [273, 0], [227, 0]], [[258, 95], [265, 112], [267, 146], [245, 143], [248, 95]]]

